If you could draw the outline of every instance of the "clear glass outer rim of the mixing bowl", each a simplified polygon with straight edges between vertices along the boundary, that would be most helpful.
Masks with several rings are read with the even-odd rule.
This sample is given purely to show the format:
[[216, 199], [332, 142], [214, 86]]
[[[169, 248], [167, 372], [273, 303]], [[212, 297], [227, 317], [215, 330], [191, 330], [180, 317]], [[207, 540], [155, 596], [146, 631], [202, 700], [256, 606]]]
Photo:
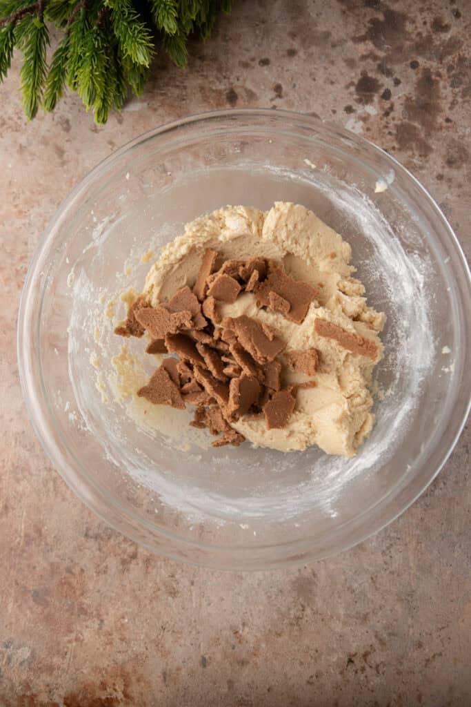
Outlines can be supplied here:
[[[265, 127], [264, 130], [272, 130], [274, 136], [276, 136], [277, 130], [273, 124], [276, 123], [280, 124], [281, 130], [283, 127], [289, 125], [291, 129], [302, 129], [304, 132], [311, 131], [315, 134], [322, 134], [324, 137], [331, 135], [335, 136], [336, 139], [345, 139], [350, 143], [355, 144], [357, 148], [364, 153], [376, 153], [376, 156], [381, 156], [381, 158], [388, 163], [390, 168], [395, 170], [396, 174], [402, 173], [404, 177], [411, 180], [415, 187], [419, 189], [422, 197], [428, 202], [428, 206], [434, 211], [434, 216], [436, 216], [436, 218], [439, 219], [445, 227], [449, 238], [448, 246], [454, 251], [454, 255], [458, 256], [458, 261], [463, 268], [463, 274], [465, 274], [465, 289], [461, 292], [461, 296], [463, 298], [462, 303], [465, 303], [465, 312], [468, 314], [467, 327], [471, 327], [471, 322], [469, 321], [469, 312], [471, 312], [471, 274], [458, 238], [433, 197], [431, 197], [429, 192], [427, 192], [427, 190], [420, 184], [416, 177], [404, 168], [398, 160], [395, 160], [395, 158], [386, 153], [386, 151], [383, 151], [381, 148], [376, 146], [374, 143], [371, 143], [371, 141], [364, 139], [362, 136], [358, 136], [347, 131], [346, 129], [343, 129], [342, 127], [339, 127], [338, 125], [324, 122], [321, 119], [309, 115], [303, 115], [297, 112], [285, 110], [273, 111], [263, 108], [217, 110], [203, 112], [196, 115], [189, 115], [181, 119], [162, 124], [160, 127], [137, 136], [135, 139], [124, 144], [124, 146], [117, 149], [117, 151], [114, 151], [114, 153], [98, 163], [95, 168], [88, 173], [88, 175], [85, 175], [85, 177], [78, 182], [76, 187], [74, 187], [74, 189], [68, 194], [66, 199], [62, 201], [59, 208], [47, 224], [47, 227], [44, 229], [42, 237], [37, 243], [35, 252], [33, 253], [30, 261], [28, 274], [25, 278], [23, 292], [20, 298], [17, 331], [20, 385], [32, 426], [54, 468], [59, 472], [64, 481], [66, 481], [73, 493], [75, 493], [76, 496], [78, 496], [78, 498], [80, 498], [81, 501], [83, 501], [83, 503], [90, 508], [90, 510], [93, 510], [93, 512], [102, 520], [105, 520], [105, 522], [112, 525], [112, 527], [126, 535], [126, 537], [133, 539], [150, 551], [153, 551], [159, 555], [168, 556], [180, 561], [183, 560], [198, 566], [233, 569], [268, 569], [278, 568], [280, 566], [297, 566], [309, 561], [323, 559], [327, 556], [337, 554], [340, 551], [353, 547], [359, 542], [362, 542], [370, 537], [372, 534], [380, 531], [383, 527], [386, 527], [386, 525], [389, 525], [390, 522], [393, 522], [395, 518], [398, 518], [399, 515], [407, 510], [412, 503], [415, 503], [417, 498], [419, 498], [425, 489], [427, 489], [429, 484], [431, 484], [431, 481], [433, 481], [437, 474], [439, 474], [443, 468], [443, 465], [448, 460], [448, 457], [451, 455], [451, 452], [453, 452], [458, 439], [460, 438], [460, 434], [463, 431], [463, 427], [465, 426], [471, 407], [471, 376], [468, 375], [468, 380], [465, 381], [468, 389], [467, 392], [469, 394], [467, 395], [467, 404], [465, 404], [463, 414], [458, 420], [455, 421], [454, 430], [449, 438], [448, 445], [443, 448], [441, 458], [435, 464], [433, 469], [421, 469], [421, 481], [419, 484], [415, 484], [416, 489], [414, 493], [411, 493], [410, 497], [408, 497], [406, 501], [398, 503], [398, 496], [396, 496], [388, 505], [388, 496], [386, 495], [386, 497], [382, 498], [376, 506], [369, 509], [372, 512], [366, 524], [354, 530], [348, 539], [344, 538], [343, 542], [340, 542], [335, 549], [331, 548], [324, 552], [310, 551], [309, 538], [304, 538], [301, 541], [292, 541], [275, 546], [278, 548], [284, 547], [287, 549], [282, 556], [269, 556], [271, 547], [266, 548], [268, 553], [265, 559], [261, 558], [258, 552], [256, 565], [254, 566], [254, 563], [246, 557], [246, 553], [253, 551], [253, 548], [244, 548], [242, 546], [222, 548], [217, 547], [217, 545], [214, 544], [199, 544], [194, 541], [184, 539], [181, 536], [174, 535], [170, 531], [157, 532], [157, 529], [153, 529], [153, 534], [160, 535], [159, 542], [153, 542], [152, 539], [147, 539], [145, 537], [143, 538], [141, 532], [136, 529], [136, 524], [141, 524], [143, 526], [143, 530], [145, 531], [148, 529], [148, 524], [146, 522], [143, 522], [143, 520], [137, 515], [124, 513], [122, 508], [120, 508], [116, 503], [113, 503], [113, 505], [109, 505], [108, 507], [110, 501], [109, 498], [96, 498], [96, 487], [93, 486], [93, 488], [89, 488], [87, 486], [84, 479], [80, 477], [80, 474], [76, 472], [76, 469], [71, 467], [71, 464], [67, 462], [66, 457], [61, 454], [58, 446], [54, 443], [54, 439], [50, 434], [47, 421], [44, 419], [43, 413], [44, 409], [47, 410], [47, 404], [44, 402], [42, 387], [40, 382], [35, 380], [31, 373], [35, 363], [35, 351], [39, 351], [39, 346], [25, 346], [25, 342], [30, 343], [30, 341], [37, 341], [40, 337], [40, 323], [36, 322], [37, 327], [33, 328], [33, 322], [30, 322], [28, 318], [30, 298], [32, 296], [37, 296], [37, 288], [35, 286], [37, 282], [40, 281], [41, 276], [41, 273], [38, 271], [37, 264], [40, 262], [44, 250], [49, 249], [51, 242], [58, 233], [58, 228], [61, 221], [63, 221], [68, 212], [73, 209], [75, 201], [78, 199], [81, 192], [88, 188], [90, 182], [99, 179], [100, 175], [112, 168], [114, 163], [117, 163], [119, 159], [124, 156], [124, 154], [129, 153], [137, 146], [141, 146], [146, 141], [155, 139], [157, 136], [177, 132], [184, 129], [186, 126], [198, 127], [198, 125], [201, 125], [201, 127], [203, 127], [204, 124], [216, 124], [217, 121], [221, 119], [234, 120], [234, 127], [231, 127], [231, 129], [226, 129], [226, 132], [237, 130], [236, 122], [238, 119], [245, 121], [242, 126], [245, 129], [251, 128], [251, 126], [247, 123], [250, 120], [254, 120], [255, 122], [257, 120], [263, 121], [263, 119], [267, 119], [270, 122], [270, 127]], [[195, 138], [194, 134], [192, 134], [192, 138]], [[39, 354], [37, 354], [37, 358], [39, 358]], [[402, 494], [400, 498], [402, 498]], [[121, 513], [119, 513], [119, 509], [121, 510]], [[202, 551], [198, 552], [198, 559], [195, 559], [192, 556], [192, 548], [194, 547], [198, 547], [198, 549]], [[260, 550], [263, 550], [263, 548], [258, 548], [258, 551]], [[229, 558], [229, 562], [220, 561], [220, 551], [223, 551], [226, 555], [232, 554], [232, 558]]]

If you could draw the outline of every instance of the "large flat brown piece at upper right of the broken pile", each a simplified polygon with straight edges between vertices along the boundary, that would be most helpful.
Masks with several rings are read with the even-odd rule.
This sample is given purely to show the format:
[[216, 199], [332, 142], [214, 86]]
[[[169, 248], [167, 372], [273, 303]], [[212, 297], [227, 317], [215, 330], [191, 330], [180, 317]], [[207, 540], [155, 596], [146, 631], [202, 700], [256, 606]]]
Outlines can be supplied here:
[[316, 290], [307, 282], [294, 280], [278, 265], [270, 264], [267, 279], [256, 288], [258, 307], [271, 307], [270, 293], [273, 292], [290, 303], [287, 319], [301, 324], [309, 310], [309, 305], [316, 297]]

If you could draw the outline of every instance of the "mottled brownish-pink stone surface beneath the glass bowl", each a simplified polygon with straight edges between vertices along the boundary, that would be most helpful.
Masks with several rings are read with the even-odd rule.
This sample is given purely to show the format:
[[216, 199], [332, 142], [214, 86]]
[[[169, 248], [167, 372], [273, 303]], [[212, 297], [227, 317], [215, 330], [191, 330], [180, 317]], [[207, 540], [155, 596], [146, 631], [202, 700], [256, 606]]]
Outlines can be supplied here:
[[468, 0], [234, 0], [187, 71], [164, 57], [141, 101], [96, 127], [68, 95], [27, 124], [18, 62], [0, 89], [1, 707], [471, 704], [470, 431], [399, 520], [299, 570], [158, 559], [73, 496], [18, 385], [20, 289], [68, 191], [134, 136], [229, 106], [309, 112], [422, 180], [467, 254]]

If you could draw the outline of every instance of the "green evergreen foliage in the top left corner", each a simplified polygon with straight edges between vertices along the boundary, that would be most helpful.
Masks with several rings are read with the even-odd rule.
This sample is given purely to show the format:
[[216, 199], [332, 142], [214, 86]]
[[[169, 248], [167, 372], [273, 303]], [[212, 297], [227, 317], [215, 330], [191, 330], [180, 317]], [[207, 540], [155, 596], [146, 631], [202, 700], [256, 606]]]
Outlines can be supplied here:
[[[121, 110], [129, 89], [143, 95], [153, 56], [165, 49], [182, 69], [190, 35], [205, 40], [230, 0], [0, 0], [0, 82], [15, 49], [28, 119], [52, 111], [66, 86], [81, 96], [97, 123]], [[49, 30], [61, 32], [47, 64]]]

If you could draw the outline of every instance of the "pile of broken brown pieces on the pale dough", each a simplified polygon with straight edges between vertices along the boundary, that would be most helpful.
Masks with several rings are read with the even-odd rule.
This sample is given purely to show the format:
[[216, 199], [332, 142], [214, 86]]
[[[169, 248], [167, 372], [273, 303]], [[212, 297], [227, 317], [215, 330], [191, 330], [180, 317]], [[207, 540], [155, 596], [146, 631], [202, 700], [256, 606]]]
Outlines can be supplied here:
[[[167, 302], [151, 307], [142, 297], [129, 308], [126, 322], [115, 329], [124, 337], [152, 341], [149, 354], [174, 354], [138, 390], [153, 404], [184, 409], [196, 406], [191, 425], [220, 435], [214, 447], [244, 441], [232, 423], [242, 416], [264, 417], [268, 429], [285, 427], [296, 405], [299, 387], [282, 387], [285, 343], [270, 327], [251, 317], [220, 317], [217, 301], [234, 303], [240, 293], [254, 292], [258, 307], [280, 312], [298, 324], [316, 296], [314, 288], [292, 279], [278, 262], [262, 257], [226, 260], [205, 250], [193, 291], [183, 287]], [[333, 336], [332, 332], [329, 332]], [[283, 363], [314, 376], [318, 351], [290, 351]]]

